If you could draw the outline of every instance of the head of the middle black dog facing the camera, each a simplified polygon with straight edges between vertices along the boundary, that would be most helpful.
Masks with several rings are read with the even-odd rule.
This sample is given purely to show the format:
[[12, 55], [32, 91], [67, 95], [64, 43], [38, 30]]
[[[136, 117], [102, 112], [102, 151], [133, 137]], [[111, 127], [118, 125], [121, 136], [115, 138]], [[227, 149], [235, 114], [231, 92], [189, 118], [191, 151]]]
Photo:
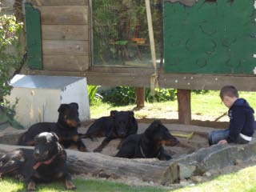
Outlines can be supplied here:
[[126, 137], [131, 128], [131, 122], [134, 121], [134, 112], [111, 110], [110, 116], [114, 119], [114, 129], [118, 136]]

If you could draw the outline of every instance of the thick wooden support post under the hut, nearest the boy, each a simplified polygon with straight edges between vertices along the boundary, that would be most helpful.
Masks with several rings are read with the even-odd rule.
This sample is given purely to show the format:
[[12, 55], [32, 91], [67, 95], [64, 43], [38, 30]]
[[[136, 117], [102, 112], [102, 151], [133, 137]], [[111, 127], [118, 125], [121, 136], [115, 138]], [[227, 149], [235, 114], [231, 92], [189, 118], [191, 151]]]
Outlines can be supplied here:
[[178, 122], [189, 125], [191, 123], [191, 91], [178, 90]]

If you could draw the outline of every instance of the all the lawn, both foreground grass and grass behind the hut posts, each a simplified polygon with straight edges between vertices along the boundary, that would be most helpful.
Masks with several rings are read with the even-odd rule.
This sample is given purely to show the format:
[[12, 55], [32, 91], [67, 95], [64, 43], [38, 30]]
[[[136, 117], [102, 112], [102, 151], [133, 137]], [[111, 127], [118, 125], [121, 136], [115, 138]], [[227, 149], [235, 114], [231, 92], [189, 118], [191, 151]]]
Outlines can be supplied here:
[[[254, 109], [256, 109], [256, 93], [241, 92], [240, 97], [246, 98]], [[192, 94], [191, 98], [193, 117], [213, 120], [227, 111], [226, 107], [218, 97], [218, 91], [210, 91], [206, 94]], [[130, 106], [110, 106], [102, 103], [98, 106], [91, 106], [91, 118], [99, 118], [110, 114], [110, 110], [133, 110], [134, 105]], [[135, 110], [136, 118], [177, 118], [177, 101], [148, 103], [145, 109]], [[164, 188], [126, 186], [115, 182], [106, 182], [102, 180], [84, 180], [82, 178], [74, 179], [74, 184], [78, 187], [77, 191], [156, 191], [156, 192], [201, 192], [201, 191], [225, 191], [225, 192], [254, 192], [256, 191], [256, 166], [250, 166], [238, 172], [221, 175], [213, 178], [209, 182], [197, 184], [195, 186], [180, 188], [177, 190], [167, 190]], [[4, 178], [0, 181], [0, 191], [26, 191], [22, 182]], [[63, 183], [53, 183], [49, 185], [38, 185], [40, 192], [63, 191]]]

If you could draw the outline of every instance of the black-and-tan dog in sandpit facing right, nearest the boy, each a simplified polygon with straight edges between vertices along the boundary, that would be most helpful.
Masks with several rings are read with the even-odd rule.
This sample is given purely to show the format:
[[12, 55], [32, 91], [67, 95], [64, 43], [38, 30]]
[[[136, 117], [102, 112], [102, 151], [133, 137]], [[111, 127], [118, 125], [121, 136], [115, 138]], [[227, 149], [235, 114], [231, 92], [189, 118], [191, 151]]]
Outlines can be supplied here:
[[158, 158], [170, 160], [165, 154], [163, 146], [175, 146], [178, 139], [170, 134], [162, 122], [155, 120], [143, 134], [132, 134], [123, 142], [115, 157], [118, 158]]

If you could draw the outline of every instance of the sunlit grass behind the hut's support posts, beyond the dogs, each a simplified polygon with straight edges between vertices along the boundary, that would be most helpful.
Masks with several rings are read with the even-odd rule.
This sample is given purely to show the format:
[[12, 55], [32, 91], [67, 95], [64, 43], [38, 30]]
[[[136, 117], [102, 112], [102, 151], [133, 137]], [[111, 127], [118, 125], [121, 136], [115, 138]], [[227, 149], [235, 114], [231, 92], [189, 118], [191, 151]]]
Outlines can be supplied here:
[[[206, 94], [191, 94], [191, 112], [192, 114], [198, 114], [207, 116], [213, 120], [218, 118], [225, 112], [227, 112], [226, 106], [221, 103], [221, 99], [218, 96], [219, 91], [209, 91]], [[240, 98], [245, 98], [256, 110], [256, 93], [254, 92], [240, 92]], [[90, 107], [91, 118], [100, 118], [110, 114], [110, 110], [133, 110], [136, 105], [129, 106], [111, 106], [107, 103], [102, 103], [98, 106]], [[146, 110], [135, 110], [136, 118], [172, 118], [165, 116], [168, 112], [178, 111], [178, 102], [146, 102]]]

